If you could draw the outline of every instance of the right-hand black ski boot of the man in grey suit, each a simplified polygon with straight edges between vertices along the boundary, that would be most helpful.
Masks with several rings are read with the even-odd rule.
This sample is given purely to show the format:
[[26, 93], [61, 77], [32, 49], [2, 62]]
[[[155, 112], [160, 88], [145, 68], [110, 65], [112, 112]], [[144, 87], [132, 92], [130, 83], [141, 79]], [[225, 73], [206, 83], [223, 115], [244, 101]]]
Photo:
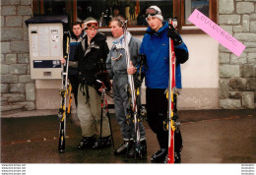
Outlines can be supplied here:
[[[147, 153], [147, 142], [146, 142], [146, 139], [140, 142], [140, 148], [141, 148], [140, 152], [138, 151], [138, 148], [139, 147], [136, 146], [136, 143], [133, 142], [133, 146], [130, 149], [127, 157], [128, 158], [133, 158], [133, 157], [142, 158], [142, 155], [145, 155]], [[136, 152], [136, 154], [135, 154], [135, 152]]]

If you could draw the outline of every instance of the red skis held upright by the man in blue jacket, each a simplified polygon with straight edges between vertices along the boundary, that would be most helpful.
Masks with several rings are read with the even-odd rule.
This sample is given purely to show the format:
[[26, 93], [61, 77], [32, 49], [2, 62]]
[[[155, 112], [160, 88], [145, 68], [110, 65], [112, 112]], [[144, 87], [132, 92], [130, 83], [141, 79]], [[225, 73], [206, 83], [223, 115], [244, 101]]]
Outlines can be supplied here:
[[[177, 26], [176, 19], [170, 19], [169, 25], [175, 29]], [[176, 116], [176, 96], [177, 88], [175, 87], [175, 52], [173, 40], [169, 38], [169, 85], [168, 85], [168, 155], [167, 163], [174, 163], [175, 161], [175, 152], [174, 152], [174, 132], [176, 129], [175, 126], [175, 117]]]

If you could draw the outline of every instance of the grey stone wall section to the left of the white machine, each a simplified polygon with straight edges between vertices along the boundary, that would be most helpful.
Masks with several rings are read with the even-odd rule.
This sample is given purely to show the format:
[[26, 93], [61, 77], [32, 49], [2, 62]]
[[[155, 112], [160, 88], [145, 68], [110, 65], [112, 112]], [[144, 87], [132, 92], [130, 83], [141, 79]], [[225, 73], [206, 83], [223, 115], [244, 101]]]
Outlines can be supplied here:
[[1, 0], [1, 110], [35, 109], [28, 28], [32, 0]]

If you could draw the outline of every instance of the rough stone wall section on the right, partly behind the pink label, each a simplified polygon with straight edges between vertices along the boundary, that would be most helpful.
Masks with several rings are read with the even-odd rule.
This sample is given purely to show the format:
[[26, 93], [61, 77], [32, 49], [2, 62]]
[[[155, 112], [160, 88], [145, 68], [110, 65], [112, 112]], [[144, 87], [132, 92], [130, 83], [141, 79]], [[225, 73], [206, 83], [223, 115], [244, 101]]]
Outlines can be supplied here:
[[219, 0], [219, 24], [245, 46], [240, 57], [220, 45], [220, 107], [255, 108], [256, 0]]

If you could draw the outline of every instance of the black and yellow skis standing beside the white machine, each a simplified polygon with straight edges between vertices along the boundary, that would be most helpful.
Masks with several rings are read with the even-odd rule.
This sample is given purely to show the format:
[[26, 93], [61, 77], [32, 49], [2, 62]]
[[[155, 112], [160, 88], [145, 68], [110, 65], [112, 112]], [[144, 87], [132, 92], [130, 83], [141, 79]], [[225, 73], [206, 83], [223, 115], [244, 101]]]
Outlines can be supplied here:
[[58, 150], [60, 153], [65, 152], [65, 141], [66, 141], [66, 118], [68, 115], [67, 110], [67, 98], [69, 93], [71, 93], [71, 86], [68, 84], [68, 65], [69, 65], [69, 42], [70, 42], [70, 32], [64, 32], [64, 38], [66, 38], [66, 62], [62, 65], [61, 73], [61, 87], [59, 89], [61, 95], [61, 106], [58, 112], [58, 118], [60, 121], [59, 129], [59, 145]]

